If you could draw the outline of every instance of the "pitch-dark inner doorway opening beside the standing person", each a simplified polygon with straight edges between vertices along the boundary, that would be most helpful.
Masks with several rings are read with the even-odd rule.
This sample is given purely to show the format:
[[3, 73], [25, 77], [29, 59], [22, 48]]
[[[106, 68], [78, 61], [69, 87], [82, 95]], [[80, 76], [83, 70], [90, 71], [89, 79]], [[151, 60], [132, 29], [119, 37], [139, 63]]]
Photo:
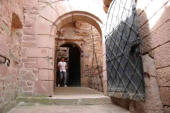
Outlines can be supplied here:
[[61, 47], [69, 48], [68, 86], [80, 86], [80, 50], [75, 44], [64, 44]]

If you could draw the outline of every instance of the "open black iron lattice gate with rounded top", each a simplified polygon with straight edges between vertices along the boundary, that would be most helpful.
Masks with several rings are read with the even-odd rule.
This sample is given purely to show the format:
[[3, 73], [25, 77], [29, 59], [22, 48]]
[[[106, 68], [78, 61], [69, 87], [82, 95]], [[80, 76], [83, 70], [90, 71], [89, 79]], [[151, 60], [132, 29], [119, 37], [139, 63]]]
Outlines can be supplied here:
[[141, 39], [135, 0], [113, 0], [105, 29], [108, 94], [144, 100]]

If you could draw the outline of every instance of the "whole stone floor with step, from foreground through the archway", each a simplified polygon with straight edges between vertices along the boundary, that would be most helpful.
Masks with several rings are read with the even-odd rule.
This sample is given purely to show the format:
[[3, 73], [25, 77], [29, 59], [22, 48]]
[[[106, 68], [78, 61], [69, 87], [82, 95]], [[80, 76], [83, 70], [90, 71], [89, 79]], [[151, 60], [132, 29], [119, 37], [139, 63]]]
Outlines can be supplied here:
[[8, 113], [130, 113], [90, 88], [56, 88], [53, 97], [20, 97]]

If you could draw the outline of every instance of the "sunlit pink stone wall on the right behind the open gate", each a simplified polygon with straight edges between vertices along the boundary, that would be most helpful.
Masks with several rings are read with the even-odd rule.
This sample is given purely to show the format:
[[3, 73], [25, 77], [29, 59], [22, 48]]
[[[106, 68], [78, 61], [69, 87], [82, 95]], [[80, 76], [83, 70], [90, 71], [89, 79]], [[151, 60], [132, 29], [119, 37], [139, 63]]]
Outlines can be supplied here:
[[143, 109], [147, 112], [160, 113], [162, 104], [163, 112], [169, 113], [170, 2], [169, 0], [138, 0], [137, 9], [145, 55], [144, 69], [145, 75], [148, 75], [145, 76], [146, 102]]

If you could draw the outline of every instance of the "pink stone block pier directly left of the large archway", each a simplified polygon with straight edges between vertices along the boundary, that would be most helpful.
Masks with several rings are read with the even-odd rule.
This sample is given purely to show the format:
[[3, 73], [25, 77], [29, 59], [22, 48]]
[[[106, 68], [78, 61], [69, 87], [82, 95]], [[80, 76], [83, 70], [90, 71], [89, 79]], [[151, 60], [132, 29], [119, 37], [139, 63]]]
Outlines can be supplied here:
[[20, 96], [51, 96], [53, 93], [54, 67], [51, 48], [54, 48], [54, 38], [51, 38], [48, 30], [51, 23], [40, 17], [42, 7], [36, 0], [24, 3]]

